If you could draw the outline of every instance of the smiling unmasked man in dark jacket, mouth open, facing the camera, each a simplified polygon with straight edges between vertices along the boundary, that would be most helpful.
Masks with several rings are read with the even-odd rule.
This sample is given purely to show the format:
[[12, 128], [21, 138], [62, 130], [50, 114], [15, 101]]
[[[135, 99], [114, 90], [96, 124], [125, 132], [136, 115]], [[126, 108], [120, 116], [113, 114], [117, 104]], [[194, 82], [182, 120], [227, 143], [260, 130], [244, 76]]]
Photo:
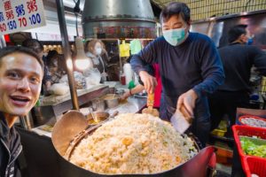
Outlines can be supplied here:
[[24, 47], [0, 50], [0, 176], [19, 177], [22, 150], [14, 122], [25, 116], [38, 100], [43, 60]]

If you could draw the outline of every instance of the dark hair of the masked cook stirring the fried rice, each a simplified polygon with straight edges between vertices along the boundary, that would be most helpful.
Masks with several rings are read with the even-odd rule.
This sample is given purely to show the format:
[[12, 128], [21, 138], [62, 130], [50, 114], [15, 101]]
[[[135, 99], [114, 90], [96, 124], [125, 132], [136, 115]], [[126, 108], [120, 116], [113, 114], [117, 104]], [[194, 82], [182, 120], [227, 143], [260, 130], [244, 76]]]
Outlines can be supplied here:
[[160, 12], [160, 23], [168, 21], [173, 15], [181, 15], [182, 19], [189, 24], [191, 20], [191, 10], [184, 3], [172, 2]]

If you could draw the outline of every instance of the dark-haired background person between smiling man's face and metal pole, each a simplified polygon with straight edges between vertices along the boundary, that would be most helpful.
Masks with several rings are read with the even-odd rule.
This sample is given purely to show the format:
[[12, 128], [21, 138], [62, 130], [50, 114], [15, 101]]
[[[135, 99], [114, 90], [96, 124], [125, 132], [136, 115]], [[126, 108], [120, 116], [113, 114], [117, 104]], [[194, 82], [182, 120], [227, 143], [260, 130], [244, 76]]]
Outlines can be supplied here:
[[61, 58], [57, 50], [50, 50], [47, 55], [47, 75], [45, 77], [45, 90], [49, 90], [51, 85], [59, 83], [61, 77], [66, 74], [66, 66], [64, 59]]

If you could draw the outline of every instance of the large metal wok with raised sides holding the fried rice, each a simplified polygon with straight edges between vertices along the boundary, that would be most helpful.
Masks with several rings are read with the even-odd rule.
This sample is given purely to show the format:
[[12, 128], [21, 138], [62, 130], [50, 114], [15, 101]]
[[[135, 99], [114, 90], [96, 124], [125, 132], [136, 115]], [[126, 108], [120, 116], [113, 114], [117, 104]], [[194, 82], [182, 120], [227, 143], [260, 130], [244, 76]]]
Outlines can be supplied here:
[[[77, 118], [77, 121], [74, 121], [73, 118]], [[82, 119], [85, 121], [82, 121]], [[209, 176], [210, 168], [215, 167], [215, 163], [212, 166], [209, 166], [209, 162], [215, 162], [215, 148], [209, 146], [200, 150], [200, 152], [191, 158], [189, 161], [184, 164], [178, 165], [175, 168], [162, 172], [162, 173], [153, 173], [153, 174], [98, 174], [93, 173], [88, 170], [85, 170], [77, 165], [74, 165], [63, 158], [66, 149], [69, 146], [69, 143], [74, 139], [74, 136], [82, 132], [84, 128], [88, 126], [86, 124], [86, 118], [82, 115], [81, 112], [70, 111], [67, 112], [62, 119], [60, 119], [54, 126], [53, 132], [51, 134], [51, 140], [54, 148], [58, 151], [60, 157], [60, 168], [61, 176], [64, 177], [107, 177], [107, 176], [153, 176], [153, 177], [205, 177]]]

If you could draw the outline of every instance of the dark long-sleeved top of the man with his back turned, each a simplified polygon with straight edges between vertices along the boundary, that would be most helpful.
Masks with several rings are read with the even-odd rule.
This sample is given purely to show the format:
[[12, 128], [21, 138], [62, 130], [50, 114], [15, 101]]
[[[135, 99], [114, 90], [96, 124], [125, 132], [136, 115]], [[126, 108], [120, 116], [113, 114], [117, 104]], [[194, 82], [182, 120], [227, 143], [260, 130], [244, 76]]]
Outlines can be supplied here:
[[225, 81], [218, 90], [250, 90], [250, 69], [254, 65], [259, 73], [266, 75], [266, 53], [252, 45], [233, 43], [219, 49], [223, 62]]

